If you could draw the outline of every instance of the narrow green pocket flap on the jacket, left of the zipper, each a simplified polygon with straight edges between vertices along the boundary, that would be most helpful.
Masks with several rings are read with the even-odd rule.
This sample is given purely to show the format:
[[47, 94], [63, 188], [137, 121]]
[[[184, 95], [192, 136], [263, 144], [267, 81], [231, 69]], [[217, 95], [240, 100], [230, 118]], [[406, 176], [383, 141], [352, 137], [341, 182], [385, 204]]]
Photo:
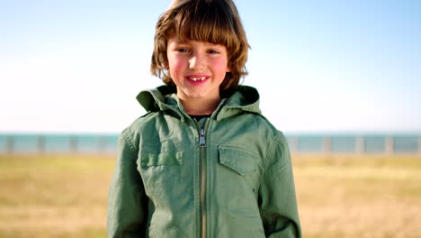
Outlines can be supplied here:
[[183, 152], [141, 153], [140, 166], [147, 168], [158, 165], [182, 165]]

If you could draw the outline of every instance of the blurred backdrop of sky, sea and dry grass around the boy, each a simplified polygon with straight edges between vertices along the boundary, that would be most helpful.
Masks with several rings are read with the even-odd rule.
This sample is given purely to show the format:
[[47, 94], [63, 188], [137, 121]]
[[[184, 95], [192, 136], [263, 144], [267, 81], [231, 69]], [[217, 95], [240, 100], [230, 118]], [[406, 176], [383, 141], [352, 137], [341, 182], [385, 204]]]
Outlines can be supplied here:
[[[0, 237], [103, 237], [171, 1], [0, 0]], [[421, 237], [421, 2], [235, 1], [305, 237]], [[93, 192], [94, 191], [94, 192]]]

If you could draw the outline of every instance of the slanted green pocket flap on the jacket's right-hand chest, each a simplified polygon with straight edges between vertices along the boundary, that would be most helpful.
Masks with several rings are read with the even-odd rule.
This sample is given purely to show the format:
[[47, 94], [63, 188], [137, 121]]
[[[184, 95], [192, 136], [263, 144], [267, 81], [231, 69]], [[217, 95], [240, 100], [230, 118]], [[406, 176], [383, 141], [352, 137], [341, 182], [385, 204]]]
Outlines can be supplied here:
[[252, 152], [222, 145], [219, 145], [218, 152], [220, 164], [240, 175], [255, 173], [257, 158]]

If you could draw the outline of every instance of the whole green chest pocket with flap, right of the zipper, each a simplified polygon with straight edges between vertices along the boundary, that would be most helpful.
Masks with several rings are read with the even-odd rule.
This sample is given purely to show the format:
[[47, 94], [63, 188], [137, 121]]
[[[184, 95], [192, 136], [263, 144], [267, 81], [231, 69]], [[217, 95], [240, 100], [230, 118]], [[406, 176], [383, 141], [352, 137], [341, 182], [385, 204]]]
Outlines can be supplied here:
[[257, 190], [261, 161], [258, 155], [237, 146], [219, 145], [218, 157], [219, 204], [236, 213], [259, 215]]

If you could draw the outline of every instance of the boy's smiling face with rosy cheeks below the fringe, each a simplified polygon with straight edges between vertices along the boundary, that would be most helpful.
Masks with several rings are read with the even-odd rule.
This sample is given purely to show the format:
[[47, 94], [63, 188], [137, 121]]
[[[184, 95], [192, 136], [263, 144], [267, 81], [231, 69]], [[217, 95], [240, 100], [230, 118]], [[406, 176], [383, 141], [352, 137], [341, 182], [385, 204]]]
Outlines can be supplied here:
[[219, 85], [228, 69], [227, 48], [205, 41], [168, 40], [168, 68], [182, 100], [219, 100]]

